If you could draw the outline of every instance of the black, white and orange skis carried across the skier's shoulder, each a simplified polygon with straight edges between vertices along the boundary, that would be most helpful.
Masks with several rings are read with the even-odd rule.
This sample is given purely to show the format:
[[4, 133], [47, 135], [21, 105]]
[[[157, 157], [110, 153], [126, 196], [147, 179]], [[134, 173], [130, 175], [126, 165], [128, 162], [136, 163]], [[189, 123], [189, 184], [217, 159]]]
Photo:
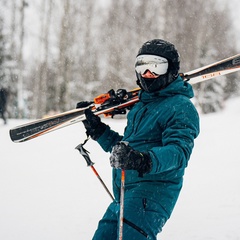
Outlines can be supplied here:
[[[180, 75], [184, 81], [189, 81], [190, 84], [196, 84], [239, 70], [240, 54], [237, 54]], [[113, 117], [116, 114], [125, 114], [129, 107], [138, 102], [139, 90], [139, 88], [129, 92], [124, 89], [119, 89], [116, 92], [110, 90], [108, 93], [96, 97], [86, 108], [73, 109], [48, 118], [17, 126], [10, 130], [11, 140], [16, 143], [24, 142], [62, 127], [83, 121], [85, 120], [84, 111], [87, 108], [91, 108], [96, 115], [104, 114]]]

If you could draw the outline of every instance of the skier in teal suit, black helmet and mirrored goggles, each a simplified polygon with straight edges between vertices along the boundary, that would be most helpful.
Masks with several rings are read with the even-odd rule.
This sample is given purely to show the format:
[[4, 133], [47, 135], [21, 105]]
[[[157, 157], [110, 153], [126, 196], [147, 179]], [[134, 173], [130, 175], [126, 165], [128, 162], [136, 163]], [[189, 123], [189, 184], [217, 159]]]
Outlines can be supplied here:
[[86, 133], [111, 152], [113, 167], [115, 201], [99, 221], [94, 240], [118, 239], [121, 169], [126, 170], [124, 218], [138, 227], [124, 223], [124, 240], [157, 239], [171, 216], [199, 134], [193, 90], [179, 76], [179, 66], [172, 43], [154, 39], [142, 45], [135, 62], [140, 101], [128, 113], [123, 136], [85, 111]]

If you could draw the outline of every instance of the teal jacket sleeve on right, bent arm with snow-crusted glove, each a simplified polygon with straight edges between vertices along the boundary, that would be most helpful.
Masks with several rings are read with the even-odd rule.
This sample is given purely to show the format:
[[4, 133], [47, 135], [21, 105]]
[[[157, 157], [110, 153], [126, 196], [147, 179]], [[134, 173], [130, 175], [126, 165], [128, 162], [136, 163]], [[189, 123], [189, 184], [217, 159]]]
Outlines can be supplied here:
[[164, 128], [163, 146], [149, 150], [152, 159], [150, 174], [185, 168], [198, 134], [199, 116], [195, 107], [191, 102], [178, 106]]

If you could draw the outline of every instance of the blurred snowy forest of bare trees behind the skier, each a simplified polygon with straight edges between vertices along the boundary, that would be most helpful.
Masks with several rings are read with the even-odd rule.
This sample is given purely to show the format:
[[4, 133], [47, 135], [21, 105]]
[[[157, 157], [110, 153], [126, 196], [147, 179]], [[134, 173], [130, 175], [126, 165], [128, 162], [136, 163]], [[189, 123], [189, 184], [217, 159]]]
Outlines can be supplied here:
[[[0, 0], [0, 88], [9, 118], [75, 108], [111, 88], [136, 87], [135, 57], [147, 40], [175, 44], [181, 72], [239, 51], [237, 0]], [[201, 113], [240, 94], [239, 74], [194, 86]]]

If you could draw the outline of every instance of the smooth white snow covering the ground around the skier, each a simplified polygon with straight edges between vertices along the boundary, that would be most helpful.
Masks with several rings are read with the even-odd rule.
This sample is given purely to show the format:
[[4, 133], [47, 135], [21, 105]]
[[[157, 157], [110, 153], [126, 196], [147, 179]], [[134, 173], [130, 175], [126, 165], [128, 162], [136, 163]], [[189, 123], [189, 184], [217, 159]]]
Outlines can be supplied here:
[[[240, 99], [221, 113], [201, 116], [201, 134], [184, 187], [161, 240], [240, 239]], [[13, 143], [9, 129], [30, 120], [0, 122], [0, 239], [89, 240], [111, 199], [75, 147], [81, 123]], [[125, 120], [104, 119], [122, 132]], [[86, 144], [111, 190], [109, 155]]]

